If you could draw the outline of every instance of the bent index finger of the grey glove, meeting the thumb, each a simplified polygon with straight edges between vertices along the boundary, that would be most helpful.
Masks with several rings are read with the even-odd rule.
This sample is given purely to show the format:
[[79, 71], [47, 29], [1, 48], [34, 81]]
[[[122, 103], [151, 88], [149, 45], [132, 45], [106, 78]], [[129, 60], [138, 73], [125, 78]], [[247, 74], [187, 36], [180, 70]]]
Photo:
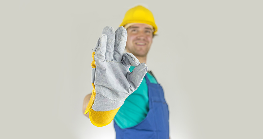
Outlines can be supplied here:
[[140, 65], [140, 61], [133, 54], [124, 53], [122, 56], [122, 64], [136, 67]]

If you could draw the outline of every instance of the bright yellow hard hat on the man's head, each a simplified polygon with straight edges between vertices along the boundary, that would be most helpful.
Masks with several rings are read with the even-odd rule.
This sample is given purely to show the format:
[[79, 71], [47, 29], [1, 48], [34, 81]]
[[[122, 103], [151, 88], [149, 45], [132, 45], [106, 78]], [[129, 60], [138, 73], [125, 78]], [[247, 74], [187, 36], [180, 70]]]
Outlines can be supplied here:
[[136, 6], [128, 10], [124, 16], [120, 26], [125, 26], [127, 23], [145, 23], [153, 26], [153, 34], [157, 32], [157, 26], [154, 22], [153, 14], [144, 6]]

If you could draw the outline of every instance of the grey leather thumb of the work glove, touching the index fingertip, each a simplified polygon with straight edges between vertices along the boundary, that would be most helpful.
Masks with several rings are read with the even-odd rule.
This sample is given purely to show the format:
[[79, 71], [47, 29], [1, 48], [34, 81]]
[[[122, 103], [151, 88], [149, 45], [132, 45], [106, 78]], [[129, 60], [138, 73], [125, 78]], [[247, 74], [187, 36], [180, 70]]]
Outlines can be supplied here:
[[127, 80], [130, 84], [131, 91], [135, 91], [140, 83], [142, 82], [142, 79], [144, 78], [145, 74], [147, 73], [147, 65], [145, 63], [141, 63], [139, 66], [135, 67], [131, 74], [127, 76]]

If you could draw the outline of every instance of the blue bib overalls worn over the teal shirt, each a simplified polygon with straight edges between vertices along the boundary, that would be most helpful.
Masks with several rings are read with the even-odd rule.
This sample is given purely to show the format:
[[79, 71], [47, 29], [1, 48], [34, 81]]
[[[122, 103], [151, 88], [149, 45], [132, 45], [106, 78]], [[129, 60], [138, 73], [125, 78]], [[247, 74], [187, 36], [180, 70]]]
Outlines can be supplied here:
[[116, 139], [168, 139], [169, 111], [164, 99], [162, 86], [150, 83], [147, 76], [146, 83], [149, 95], [149, 112], [139, 124], [121, 129], [114, 121]]

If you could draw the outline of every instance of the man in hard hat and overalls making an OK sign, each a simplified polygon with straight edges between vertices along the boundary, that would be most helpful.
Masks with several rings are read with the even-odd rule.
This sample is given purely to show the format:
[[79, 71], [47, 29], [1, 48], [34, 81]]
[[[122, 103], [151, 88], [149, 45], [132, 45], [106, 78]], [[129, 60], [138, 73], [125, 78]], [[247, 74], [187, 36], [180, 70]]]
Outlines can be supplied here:
[[[127, 35], [123, 27], [115, 32], [107, 26], [93, 49], [93, 93], [85, 97], [83, 112], [96, 126], [105, 126], [114, 117], [116, 138], [169, 138], [162, 87], [144, 64], [157, 32], [153, 15], [136, 6], [120, 26]], [[127, 53], [122, 54], [125, 42]]]

